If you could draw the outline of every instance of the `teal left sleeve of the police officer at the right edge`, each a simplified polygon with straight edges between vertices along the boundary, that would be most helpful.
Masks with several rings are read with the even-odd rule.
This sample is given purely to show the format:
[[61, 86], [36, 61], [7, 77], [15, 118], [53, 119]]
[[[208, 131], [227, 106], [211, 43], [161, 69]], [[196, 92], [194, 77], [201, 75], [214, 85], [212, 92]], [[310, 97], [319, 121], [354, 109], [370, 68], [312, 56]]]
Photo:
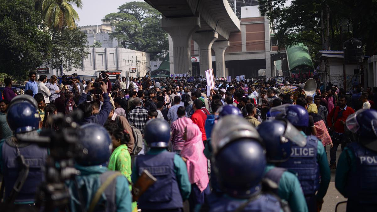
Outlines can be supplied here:
[[345, 147], [339, 156], [335, 175], [335, 187], [345, 198], [348, 198], [346, 184], [349, 172], [356, 172], [356, 155], [351, 149]]

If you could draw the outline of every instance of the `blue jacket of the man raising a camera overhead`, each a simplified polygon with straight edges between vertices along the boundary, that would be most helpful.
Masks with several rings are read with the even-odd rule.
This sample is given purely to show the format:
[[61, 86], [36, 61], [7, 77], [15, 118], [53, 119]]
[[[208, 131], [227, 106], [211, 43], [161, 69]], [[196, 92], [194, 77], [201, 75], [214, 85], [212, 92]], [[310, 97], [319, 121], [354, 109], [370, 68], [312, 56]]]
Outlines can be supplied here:
[[[86, 102], [86, 96], [87, 94], [83, 94], [80, 96], [78, 100], [78, 105]], [[80, 122], [81, 125], [87, 124], [87, 123], [97, 123], [103, 126], [105, 124], [107, 118], [109, 117], [112, 105], [110, 103], [109, 94], [104, 93], [102, 94], [102, 96], [103, 96], [103, 104], [102, 104], [101, 111], [98, 114], [94, 114], [89, 117], [83, 118], [83, 120], [81, 120]]]

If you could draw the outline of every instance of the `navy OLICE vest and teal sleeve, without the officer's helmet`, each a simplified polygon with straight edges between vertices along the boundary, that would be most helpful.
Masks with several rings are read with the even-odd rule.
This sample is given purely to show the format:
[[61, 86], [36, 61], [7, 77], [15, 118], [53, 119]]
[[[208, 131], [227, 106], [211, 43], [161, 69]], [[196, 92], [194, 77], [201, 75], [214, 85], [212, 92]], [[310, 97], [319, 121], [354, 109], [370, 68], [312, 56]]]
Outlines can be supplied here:
[[[301, 133], [305, 135], [302, 131]], [[310, 135], [307, 136], [307, 144], [304, 147], [293, 144], [291, 157], [288, 161], [280, 163], [279, 167], [287, 168], [296, 173], [309, 211], [316, 211], [316, 201], [321, 201], [325, 197], [331, 178], [327, 155], [322, 142]], [[321, 182], [319, 183], [320, 177]]]

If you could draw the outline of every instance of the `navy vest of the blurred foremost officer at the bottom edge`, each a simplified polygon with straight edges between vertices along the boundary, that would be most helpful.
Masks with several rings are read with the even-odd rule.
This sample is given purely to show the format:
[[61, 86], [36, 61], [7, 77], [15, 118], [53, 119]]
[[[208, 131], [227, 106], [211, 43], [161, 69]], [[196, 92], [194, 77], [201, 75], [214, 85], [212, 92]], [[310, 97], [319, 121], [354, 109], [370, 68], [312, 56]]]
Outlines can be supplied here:
[[[231, 197], [222, 195], [221, 197], [215, 194], [208, 196], [208, 206], [210, 212], [233, 212], [241, 207], [247, 199], [237, 200]], [[243, 212], [280, 212], [281, 206], [277, 197], [271, 194], [259, 194], [255, 200], [247, 204]]]

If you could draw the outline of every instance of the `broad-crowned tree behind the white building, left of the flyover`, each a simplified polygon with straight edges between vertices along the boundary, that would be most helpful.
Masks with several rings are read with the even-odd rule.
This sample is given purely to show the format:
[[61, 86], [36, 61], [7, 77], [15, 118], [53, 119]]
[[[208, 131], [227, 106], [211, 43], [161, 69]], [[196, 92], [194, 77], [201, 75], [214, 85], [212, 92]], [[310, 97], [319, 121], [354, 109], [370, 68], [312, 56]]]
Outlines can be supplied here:
[[103, 21], [111, 22], [115, 32], [110, 33], [123, 48], [149, 52], [150, 60], [169, 49], [167, 33], [161, 28], [159, 13], [146, 2], [129, 2], [110, 13]]

